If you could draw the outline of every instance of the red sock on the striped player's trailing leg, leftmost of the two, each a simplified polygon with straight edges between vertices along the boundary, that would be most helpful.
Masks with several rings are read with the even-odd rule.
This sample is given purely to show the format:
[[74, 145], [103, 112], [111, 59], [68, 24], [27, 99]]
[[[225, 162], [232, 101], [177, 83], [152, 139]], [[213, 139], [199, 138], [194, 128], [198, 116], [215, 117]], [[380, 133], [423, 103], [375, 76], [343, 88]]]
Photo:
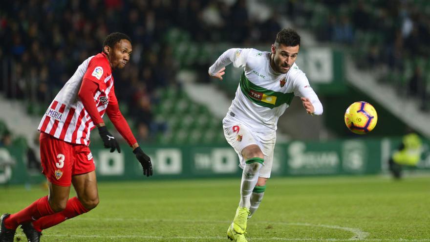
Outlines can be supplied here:
[[48, 202], [48, 196], [39, 198], [34, 201], [30, 206], [22, 209], [18, 213], [11, 214], [6, 220], [4, 220], [4, 226], [8, 229], [16, 229], [18, 225], [38, 220], [43, 216], [53, 214], [51, 206]]

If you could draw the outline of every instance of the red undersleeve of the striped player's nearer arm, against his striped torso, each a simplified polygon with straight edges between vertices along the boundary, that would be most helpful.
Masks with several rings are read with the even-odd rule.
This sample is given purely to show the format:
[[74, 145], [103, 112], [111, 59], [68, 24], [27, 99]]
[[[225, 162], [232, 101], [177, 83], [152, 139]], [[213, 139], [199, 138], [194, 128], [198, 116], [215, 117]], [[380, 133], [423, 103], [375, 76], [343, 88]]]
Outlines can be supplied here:
[[102, 116], [100, 116], [99, 111], [97, 110], [97, 104], [94, 101], [94, 94], [98, 89], [97, 83], [84, 78], [82, 80], [81, 88], [79, 89], [78, 96], [81, 99], [82, 104], [84, 105], [85, 110], [88, 112], [91, 117], [94, 125], [103, 123]]

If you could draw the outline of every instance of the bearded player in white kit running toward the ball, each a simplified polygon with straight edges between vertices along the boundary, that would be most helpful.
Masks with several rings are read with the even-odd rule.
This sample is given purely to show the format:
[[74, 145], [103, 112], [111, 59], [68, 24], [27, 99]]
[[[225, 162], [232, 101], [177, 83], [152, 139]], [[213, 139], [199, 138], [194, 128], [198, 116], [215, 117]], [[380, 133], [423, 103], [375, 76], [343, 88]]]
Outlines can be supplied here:
[[247, 241], [244, 236], [247, 220], [257, 210], [270, 177], [280, 115], [294, 96], [301, 98], [307, 113], [323, 113], [317, 94], [295, 64], [299, 48], [297, 32], [282, 29], [271, 52], [231, 48], [209, 68], [209, 75], [220, 80], [230, 63], [243, 68], [236, 97], [222, 120], [224, 135], [238, 154], [243, 169], [239, 206], [227, 230], [232, 241]]

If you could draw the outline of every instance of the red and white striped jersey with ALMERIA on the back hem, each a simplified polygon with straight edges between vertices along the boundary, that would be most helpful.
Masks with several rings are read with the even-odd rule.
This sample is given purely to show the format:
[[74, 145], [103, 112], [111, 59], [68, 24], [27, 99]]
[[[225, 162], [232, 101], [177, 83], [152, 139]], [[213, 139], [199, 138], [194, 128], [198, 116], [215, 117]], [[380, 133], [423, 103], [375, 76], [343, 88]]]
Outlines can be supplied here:
[[38, 130], [69, 143], [89, 145], [89, 134], [95, 125], [78, 96], [84, 78], [98, 85], [94, 102], [100, 116], [105, 114], [109, 102], [118, 103], [106, 54], [91, 56], [78, 67], [54, 98]]

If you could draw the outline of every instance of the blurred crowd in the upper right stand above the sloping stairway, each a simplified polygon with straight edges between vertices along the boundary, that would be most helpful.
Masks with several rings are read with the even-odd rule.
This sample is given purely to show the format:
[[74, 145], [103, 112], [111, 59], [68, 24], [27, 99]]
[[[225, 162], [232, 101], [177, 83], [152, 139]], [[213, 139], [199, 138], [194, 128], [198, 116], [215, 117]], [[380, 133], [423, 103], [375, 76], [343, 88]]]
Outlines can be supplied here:
[[429, 110], [430, 1], [289, 0], [286, 9], [293, 22], [320, 41], [351, 47], [359, 67], [383, 70], [382, 82]]

